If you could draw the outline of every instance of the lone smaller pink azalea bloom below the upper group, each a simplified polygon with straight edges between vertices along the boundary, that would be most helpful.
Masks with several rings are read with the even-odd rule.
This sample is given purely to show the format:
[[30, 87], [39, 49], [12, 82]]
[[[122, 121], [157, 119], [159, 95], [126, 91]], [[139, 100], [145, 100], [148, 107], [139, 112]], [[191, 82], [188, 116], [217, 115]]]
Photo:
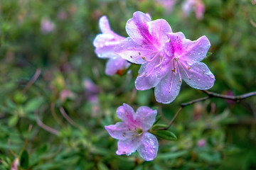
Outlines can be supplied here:
[[117, 108], [117, 117], [122, 122], [105, 126], [110, 136], [118, 141], [117, 154], [131, 154], [136, 150], [146, 161], [156, 157], [159, 143], [154, 135], [147, 132], [156, 120], [157, 111], [142, 106], [136, 111], [124, 103]]

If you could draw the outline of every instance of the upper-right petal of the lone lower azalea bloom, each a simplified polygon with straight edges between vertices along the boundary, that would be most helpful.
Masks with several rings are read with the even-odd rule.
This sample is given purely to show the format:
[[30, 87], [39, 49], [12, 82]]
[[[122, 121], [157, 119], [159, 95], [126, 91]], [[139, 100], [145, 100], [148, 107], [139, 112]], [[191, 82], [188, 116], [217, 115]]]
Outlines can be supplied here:
[[142, 130], [147, 131], [156, 121], [157, 111], [147, 106], [141, 106], [136, 111], [136, 120], [140, 124]]

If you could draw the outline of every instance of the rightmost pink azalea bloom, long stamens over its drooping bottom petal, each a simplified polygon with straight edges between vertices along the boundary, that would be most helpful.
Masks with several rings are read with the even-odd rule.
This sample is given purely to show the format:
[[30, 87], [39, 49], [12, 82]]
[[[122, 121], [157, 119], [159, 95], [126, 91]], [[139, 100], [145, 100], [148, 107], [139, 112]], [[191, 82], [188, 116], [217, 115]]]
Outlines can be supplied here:
[[161, 68], [168, 70], [155, 89], [156, 101], [171, 103], [181, 89], [181, 79], [189, 86], [210, 89], [215, 77], [201, 62], [206, 57], [210, 42], [206, 36], [191, 41], [183, 33], [168, 33], [169, 42], [164, 46], [166, 57]]

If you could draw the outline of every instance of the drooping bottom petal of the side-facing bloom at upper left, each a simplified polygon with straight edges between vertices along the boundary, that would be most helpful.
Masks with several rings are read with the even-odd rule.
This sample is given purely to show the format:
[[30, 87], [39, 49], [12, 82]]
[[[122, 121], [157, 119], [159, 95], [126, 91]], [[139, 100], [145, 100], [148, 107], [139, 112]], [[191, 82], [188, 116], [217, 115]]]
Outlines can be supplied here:
[[129, 62], [117, 55], [117, 57], [110, 58], [110, 60], [107, 61], [105, 73], [109, 76], [112, 76], [118, 71], [127, 69], [127, 67], [129, 67]]

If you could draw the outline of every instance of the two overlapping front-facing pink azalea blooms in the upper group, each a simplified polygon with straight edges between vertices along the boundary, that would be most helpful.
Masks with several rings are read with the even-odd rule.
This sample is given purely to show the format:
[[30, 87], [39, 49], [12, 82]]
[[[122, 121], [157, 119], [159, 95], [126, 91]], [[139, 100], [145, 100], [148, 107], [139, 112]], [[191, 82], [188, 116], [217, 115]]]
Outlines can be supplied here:
[[183, 33], [172, 33], [165, 20], [151, 21], [140, 11], [127, 21], [126, 29], [129, 38], [116, 46], [116, 52], [129, 62], [142, 64], [136, 89], [156, 87], [156, 101], [171, 103], [180, 91], [181, 78], [196, 89], [213, 86], [213, 74], [200, 62], [210, 47], [206, 36], [187, 40]]

